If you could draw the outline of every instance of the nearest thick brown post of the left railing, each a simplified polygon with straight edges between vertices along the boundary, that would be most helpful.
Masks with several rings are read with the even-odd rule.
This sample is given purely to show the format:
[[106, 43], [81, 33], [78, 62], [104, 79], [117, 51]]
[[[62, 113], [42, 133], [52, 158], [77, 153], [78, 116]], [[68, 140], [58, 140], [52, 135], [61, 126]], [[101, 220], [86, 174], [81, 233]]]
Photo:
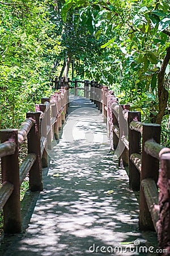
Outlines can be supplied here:
[[14, 185], [14, 190], [3, 208], [4, 232], [14, 234], [21, 232], [22, 220], [20, 211], [20, 181], [18, 162], [18, 130], [1, 130], [1, 143], [8, 140], [15, 142], [15, 153], [1, 158], [2, 183], [5, 181]]

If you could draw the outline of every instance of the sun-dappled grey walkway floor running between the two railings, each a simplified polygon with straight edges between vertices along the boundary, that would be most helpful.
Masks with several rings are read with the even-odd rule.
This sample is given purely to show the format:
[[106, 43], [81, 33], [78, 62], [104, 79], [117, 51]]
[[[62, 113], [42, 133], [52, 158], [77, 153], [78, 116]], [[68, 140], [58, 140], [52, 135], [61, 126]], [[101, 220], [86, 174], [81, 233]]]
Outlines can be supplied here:
[[90, 100], [71, 97], [61, 135], [43, 170], [44, 191], [27, 193], [23, 233], [6, 237], [1, 255], [156, 255], [109, 253], [136, 240], [149, 246], [150, 235], [138, 230], [137, 200], [124, 168], [113, 162], [106, 126]]

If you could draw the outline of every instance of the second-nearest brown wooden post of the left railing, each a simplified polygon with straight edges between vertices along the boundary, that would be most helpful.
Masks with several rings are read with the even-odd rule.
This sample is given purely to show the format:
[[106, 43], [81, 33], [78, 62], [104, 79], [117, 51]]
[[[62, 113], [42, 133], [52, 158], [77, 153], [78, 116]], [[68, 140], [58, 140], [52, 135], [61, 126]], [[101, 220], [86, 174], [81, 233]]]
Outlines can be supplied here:
[[42, 191], [41, 173], [41, 141], [40, 141], [40, 112], [27, 113], [27, 118], [32, 118], [35, 125], [28, 133], [28, 154], [36, 154], [36, 161], [29, 171], [29, 189], [31, 191]]

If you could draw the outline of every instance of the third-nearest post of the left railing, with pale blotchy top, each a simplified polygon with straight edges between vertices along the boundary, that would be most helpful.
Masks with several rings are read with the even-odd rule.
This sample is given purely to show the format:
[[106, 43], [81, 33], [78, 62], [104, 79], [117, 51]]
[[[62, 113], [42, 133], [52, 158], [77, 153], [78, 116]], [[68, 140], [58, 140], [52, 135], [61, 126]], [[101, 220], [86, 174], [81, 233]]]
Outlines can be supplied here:
[[[43, 137], [47, 138], [47, 136], [46, 136], [46, 105], [39, 104], [39, 105], [36, 105], [35, 108], [36, 108], [36, 112], [44, 113], [44, 117], [42, 117], [42, 119], [41, 119], [40, 134], [41, 134], [41, 138], [43, 138]], [[47, 143], [45, 143], [45, 147], [42, 152], [41, 163], [42, 163], [42, 167], [48, 167]]]

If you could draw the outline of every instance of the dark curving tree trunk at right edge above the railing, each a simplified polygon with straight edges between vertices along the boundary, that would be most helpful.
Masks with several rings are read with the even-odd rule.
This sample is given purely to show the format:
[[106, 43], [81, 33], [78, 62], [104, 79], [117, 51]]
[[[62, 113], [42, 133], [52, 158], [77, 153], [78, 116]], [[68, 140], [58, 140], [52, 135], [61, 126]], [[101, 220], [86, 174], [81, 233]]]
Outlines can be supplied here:
[[164, 86], [164, 76], [165, 70], [167, 68], [168, 62], [170, 60], [170, 47], [167, 49], [167, 54], [163, 60], [162, 66], [158, 73], [158, 100], [159, 100], [159, 112], [156, 117], [156, 123], [161, 123], [163, 115], [165, 113], [165, 108], [167, 107], [168, 102], [168, 90]]

